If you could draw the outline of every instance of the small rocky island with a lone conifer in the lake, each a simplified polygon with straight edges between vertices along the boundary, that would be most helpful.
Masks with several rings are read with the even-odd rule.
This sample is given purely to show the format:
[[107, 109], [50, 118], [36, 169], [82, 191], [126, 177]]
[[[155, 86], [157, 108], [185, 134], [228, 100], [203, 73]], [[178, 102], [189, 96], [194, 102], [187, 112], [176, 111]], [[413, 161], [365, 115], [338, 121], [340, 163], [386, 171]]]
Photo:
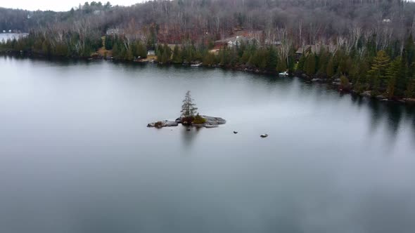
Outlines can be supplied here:
[[226, 124], [226, 120], [221, 117], [204, 116], [196, 113], [198, 108], [193, 103], [190, 91], [186, 92], [181, 106], [181, 116], [175, 121], [156, 121], [147, 125], [150, 128], [174, 127], [182, 124], [184, 126], [195, 126], [198, 128], [215, 128]]

